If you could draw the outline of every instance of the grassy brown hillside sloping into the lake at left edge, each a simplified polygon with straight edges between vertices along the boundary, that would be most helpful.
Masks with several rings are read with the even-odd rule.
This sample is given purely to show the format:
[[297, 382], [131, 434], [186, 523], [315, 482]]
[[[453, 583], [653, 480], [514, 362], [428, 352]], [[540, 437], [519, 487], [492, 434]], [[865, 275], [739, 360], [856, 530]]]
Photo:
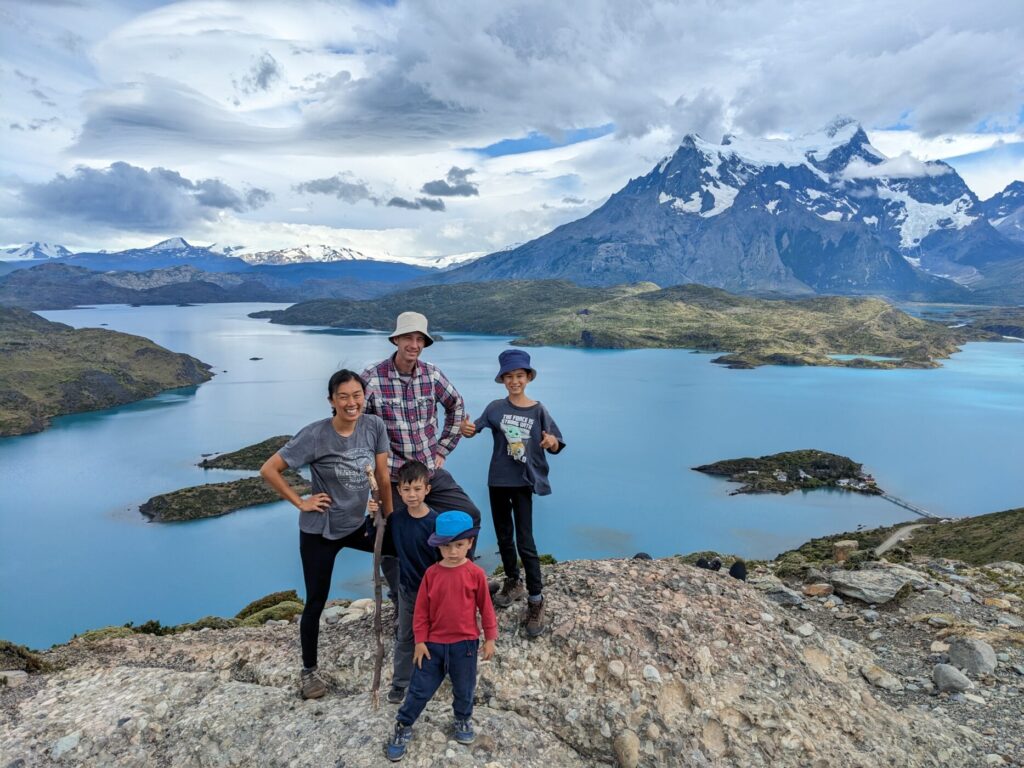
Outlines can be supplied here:
[[0, 307], [0, 436], [38, 432], [55, 416], [123, 406], [210, 378], [205, 362], [140, 336], [75, 330]]

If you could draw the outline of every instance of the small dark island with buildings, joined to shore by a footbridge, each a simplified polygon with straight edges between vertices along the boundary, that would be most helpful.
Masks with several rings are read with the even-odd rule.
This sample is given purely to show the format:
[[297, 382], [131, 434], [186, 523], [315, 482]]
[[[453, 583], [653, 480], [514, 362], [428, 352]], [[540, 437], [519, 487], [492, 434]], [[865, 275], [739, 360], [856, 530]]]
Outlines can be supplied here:
[[697, 472], [722, 475], [742, 483], [736, 494], [788, 494], [791, 490], [840, 488], [857, 494], [882, 496], [885, 492], [863, 465], [845, 456], [824, 451], [786, 451], [758, 459], [729, 459], [693, 467]]

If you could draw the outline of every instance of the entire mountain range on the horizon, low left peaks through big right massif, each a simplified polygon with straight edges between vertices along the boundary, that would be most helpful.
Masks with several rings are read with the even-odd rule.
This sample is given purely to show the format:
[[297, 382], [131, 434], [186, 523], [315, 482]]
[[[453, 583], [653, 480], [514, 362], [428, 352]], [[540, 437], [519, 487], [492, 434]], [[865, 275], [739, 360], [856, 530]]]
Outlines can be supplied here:
[[[182, 238], [116, 253], [72, 254], [34, 243], [7, 249], [0, 274], [40, 262], [141, 272], [187, 265], [203, 273], [191, 282], [238, 295], [269, 293], [281, 301], [294, 300], [300, 284], [312, 291], [300, 298], [354, 298], [403, 283], [555, 279], [598, 287], [652, 282], [766, 296], [1017, 304], [1024, 302], [1024, 182], [980, 201], [949, 165], [908, 155], [887, 158], [856, 122], [843, 119], [794, 140], [726, 136], [712, 143], [688, 135], [672, 156], [590, 215], [468, 263], [437, 260], [445, 268], [375, 260], [326, 245], [243, 251], [198, 247]], [[210, 276], [218, 273], [246, 280]], [[38, 285], [41, 279], [53, 281], [57, 273], [19, 280]], [[186, 298], [188, 292], [217, 294], [208, 287], [131, 290], [155, 288], [180, 301], [204, 300]], [[0, 285], [0, 297], [5, 290], [11, 295]], [[23, 306], [27, 295], [20, 294]]]

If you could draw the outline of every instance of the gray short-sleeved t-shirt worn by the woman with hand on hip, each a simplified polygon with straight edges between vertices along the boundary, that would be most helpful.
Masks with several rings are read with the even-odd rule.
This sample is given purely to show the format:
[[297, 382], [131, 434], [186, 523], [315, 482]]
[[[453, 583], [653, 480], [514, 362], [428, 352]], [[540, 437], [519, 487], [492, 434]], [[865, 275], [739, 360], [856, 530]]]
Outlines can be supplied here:
[[327, 512], [299, 512], [299, 529], [343, 539], [362, 524], [370, 498], [367, 465], [377, 466], [377, 454], [388, 452], [387, 428], [377, 416], [364, 414], [355, 431], [343, 437], [331, 419], [313, 422], [278, 455], [292, 469], [309, 465], [314, 494], [331, 497]]

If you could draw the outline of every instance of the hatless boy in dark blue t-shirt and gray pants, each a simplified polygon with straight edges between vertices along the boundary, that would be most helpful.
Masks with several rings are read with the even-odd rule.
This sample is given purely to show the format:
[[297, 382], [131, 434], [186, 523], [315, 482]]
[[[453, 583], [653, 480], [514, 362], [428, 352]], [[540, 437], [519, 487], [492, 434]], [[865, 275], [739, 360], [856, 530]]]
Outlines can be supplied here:
[[398, 632], [394, 644], [394, 673], [387, 700], [401, 703], [413, 677], [413, 611], [423, 574], [440, 560], [436, 547], [427, 544], [434, 532], [437, 513], [424, 504], [430, 493], [430, 470], [422, 462], [411, 461], [398, 470], [398, 494], [406, 509], [396, 509], [388, 518], [391, 541], [398, 555]]

